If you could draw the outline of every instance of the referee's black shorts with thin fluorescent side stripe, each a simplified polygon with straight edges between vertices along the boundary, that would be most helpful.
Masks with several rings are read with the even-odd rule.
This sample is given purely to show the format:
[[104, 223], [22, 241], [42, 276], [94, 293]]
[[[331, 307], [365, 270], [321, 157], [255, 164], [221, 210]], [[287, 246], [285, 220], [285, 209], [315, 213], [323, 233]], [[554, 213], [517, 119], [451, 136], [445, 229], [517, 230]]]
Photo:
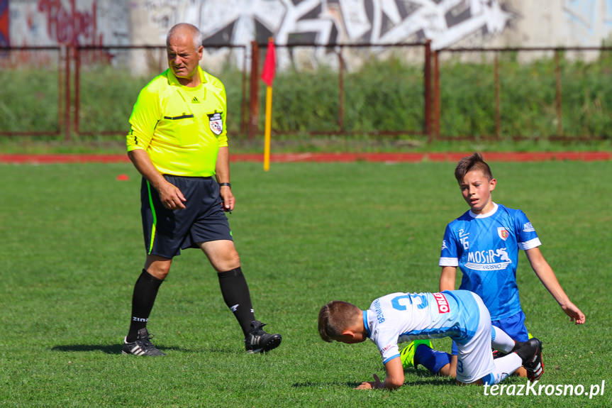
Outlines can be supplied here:
[[169, 210], [160, 202], [157, 190], [143, 178], [140, 185], [140, 212], [148, 255], [173, 258], [182, 249], [199, 248], [196, 243], [233, 241], [230, 224], [221, 206], [219, 184], [214, 177], [164, 175], [177, 186], [187, 208]]

